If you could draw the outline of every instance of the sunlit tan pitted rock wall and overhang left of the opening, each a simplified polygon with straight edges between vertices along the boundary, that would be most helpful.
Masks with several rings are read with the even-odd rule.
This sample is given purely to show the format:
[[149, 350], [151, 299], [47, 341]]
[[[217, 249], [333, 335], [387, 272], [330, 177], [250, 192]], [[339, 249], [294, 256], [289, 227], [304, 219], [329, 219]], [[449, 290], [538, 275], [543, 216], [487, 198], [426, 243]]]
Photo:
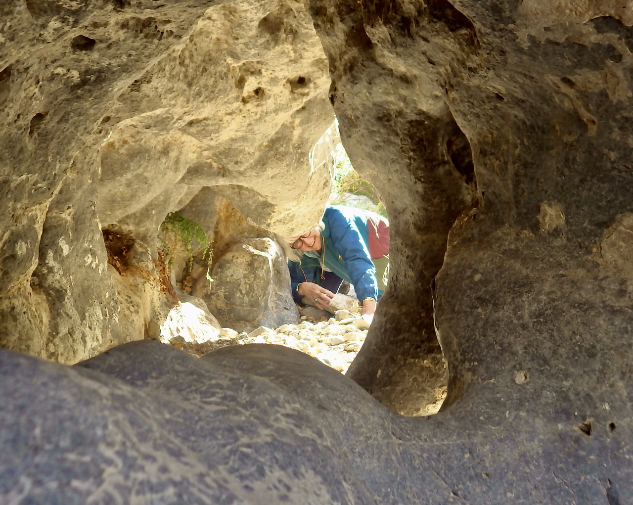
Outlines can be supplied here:
[[[1, 346], [72, 363], [142, 338], [158, 226], [201, 187], [282, 234], [318, 220], [329, 173], [307, 153], [333, 113], [302, 3], [20, 0], [0, 19]], [[149, 284], [108, 270], [102, 227]]]

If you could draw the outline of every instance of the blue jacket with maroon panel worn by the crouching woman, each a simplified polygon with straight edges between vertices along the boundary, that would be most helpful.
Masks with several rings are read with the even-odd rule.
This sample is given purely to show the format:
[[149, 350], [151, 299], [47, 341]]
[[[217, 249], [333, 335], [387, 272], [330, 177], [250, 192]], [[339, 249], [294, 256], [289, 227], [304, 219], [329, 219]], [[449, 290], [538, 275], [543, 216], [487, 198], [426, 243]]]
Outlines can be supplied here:
[[321, 261], [354, 286], [360, 301], [382, 295], [376, 282], [372, 258], [389, 254], [389, 221], [370, 211], [330, 206], [325, 209], [323, 223], [325, 229], [321, 232], [321, 258], [304, 254], [300, 264], [288, 262], [294, 298], [298, 301], [301, 299], [297, 294], [297, 286], [301, 282], [320, 284]]

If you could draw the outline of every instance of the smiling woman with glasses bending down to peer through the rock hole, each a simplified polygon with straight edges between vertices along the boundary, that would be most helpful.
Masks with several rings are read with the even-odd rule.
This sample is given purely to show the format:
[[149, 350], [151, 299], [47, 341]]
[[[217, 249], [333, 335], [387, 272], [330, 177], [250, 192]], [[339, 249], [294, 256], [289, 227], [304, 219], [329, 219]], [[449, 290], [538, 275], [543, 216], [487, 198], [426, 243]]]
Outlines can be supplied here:
[[361, 314], [374, 313], [389, 265], [386, 218], [361, 209], [330, 206], [317, 227], [297, 237], [279, 239], [290, 260], [294, 299], [306, 296], [324, 309], [338, 288], [328, 285], [328, 277], [332, 277], [328, 272], [332, 272], [354, 286]]

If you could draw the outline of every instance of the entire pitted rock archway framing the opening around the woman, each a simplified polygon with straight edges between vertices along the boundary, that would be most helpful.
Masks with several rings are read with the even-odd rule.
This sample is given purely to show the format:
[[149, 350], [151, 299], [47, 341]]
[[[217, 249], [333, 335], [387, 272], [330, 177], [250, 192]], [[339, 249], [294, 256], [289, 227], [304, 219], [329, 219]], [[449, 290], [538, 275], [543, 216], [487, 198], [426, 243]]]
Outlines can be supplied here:
[[[23, 478], [1, 492], [10, 499], [56, 492], [54, 472], [25, 464], [34, 444], [44, 463], [60, 454], [103, 456], [89, 470], [69, 463], [65, 474], [87, 482], [82, 496], [96, 501], [116, 490], [125, 502], [142, 489], [146, 497], [166, 490], [160, 496], [184, 496], [180, 502], [237, 503], [265, 489], [272, 502], [629, 502], [629, 4], [312, 0], [303, 9], [196, 1], [1, 8], [11, 21], [0, 68], [0, 342], [66, 363], [123, 342], [101, 225], [137, 232], [146, 247], [137, 261], [150, 265], [151, 227], [192, 188], [221, 185], [244, 215], [275, 231], [312, 220], [316, 209], [296, 204], [299, 181], [325, 193], [326, 176], [301, 165], [299, 153], [320, 135], [312, 128], [327, 127], [331, 106], [354, 166], [379, 191], [393, 226], [394, 275], [349, 376], [406, 409], [419, 400], [420, 383], [433, 380], [420, 359], [434, 352], [437, 335], [449, 369], [444, 411], [404, 419], [348, 378], [273, 347], [191, 361], [136, 342], [75, 368], [3, 351], [0, 373], [11, 387], [0, 404], [9, 428], [0, 433], [13, 445], [2, 456]], [[213, 32], [215, 22], [224, 28]], [[292, 44], [301, 48], [284, 65], [292, 72], [275, 81], [275, 51]], [[327, 69], [322, 53], [310, 57], [319, 44]], [[270, 51], [273, 63], [234, 58], [238, 46]], [[229, 60], [242, 63], [232, 72]], [[214, 77], [210, 68], [223, 70]], [[275, 87], [262, 84], [266, 69], [287, 97], [284, 108], [275, 106]], [[206, 82], [217, 83], [214, 92], [227, 87], [224, 108], [211, 98], [203, 111], [191, 106], [207, 96]], [[215, 115], [230, 103], [248, 111], [243, 123]], [[222, 144], [223, 132], [248, 129], [263, 110], [270, 116], [259, 149], [248, 135], [235, 136], [237, 153]], [[217, 136], [204, 137], [209, 131]], [[282, 200], [284, 187], [254, 182], [263, 161], [277, 180], [282, 172], [291, 178], [292, 198]], [[147, 169], [138, 177], [160, 171], [143, 194], [125, 182], [140, 166]], [[108, 190], [130, 195], [127, 213], [116, 215], [115, 199], [110, 206], [102, 199]], [[110, 222], [99, 222], [100, 213]], [[173, 367], [163, 373], [157, 363]], [[29, 388], [27, 377], [41, 387]], [[196, 382], [201, 377], [208, 387]], [[64, 387], [47, 404], [44, 385], [53, 381]], [[120, 399], [114, 406], [112, 395]], [[33, 404], [51, 416], [40, 422]], [[93, 415], [106, 406], [108, 419], [120, 421], [109, 428]], [[206, 421], [173, 418], [179, 408]], [[140, 412], [151, 423], [145, 431]], [[68, 439], [56, 431], [66, 426], [59, 416]], [[227, 418], [244, 416], [254, 430], [239, 423], [223, 430]], [[42, 427], [52, 446], [35, 436]], [[195, 436], [183, 437], [189, 428]], [[94, 430], [103, 439], [85, 441]], [[166, 442], [120, 482], [130, 473], [112, 454], [141, 461], [146, 440]], [[200, 449], [200, 440], [213, 443]]]

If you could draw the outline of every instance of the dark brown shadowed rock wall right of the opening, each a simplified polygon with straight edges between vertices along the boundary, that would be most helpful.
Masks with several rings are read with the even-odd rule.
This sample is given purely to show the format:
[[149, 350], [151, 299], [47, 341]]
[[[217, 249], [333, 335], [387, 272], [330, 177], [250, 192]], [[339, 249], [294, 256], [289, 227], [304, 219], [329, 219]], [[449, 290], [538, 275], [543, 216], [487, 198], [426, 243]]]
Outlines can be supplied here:
[[[434, 326], [451, 402], [510, 366], [568, 365], [566, 352], [527, 349], [580, 338], [608, 359], [632, 318], [628, 221], [618, 218], [632, 208], [630, 6], [310, 5], [342, 141], [393, 230], [389, 289], [349, 376], [415, 408], [439, 380], [422, 366]], [[576, 370], [564, 382], [579, 383], [586, 368]], [[562, 387], [558, 375], [548, 381]]]

